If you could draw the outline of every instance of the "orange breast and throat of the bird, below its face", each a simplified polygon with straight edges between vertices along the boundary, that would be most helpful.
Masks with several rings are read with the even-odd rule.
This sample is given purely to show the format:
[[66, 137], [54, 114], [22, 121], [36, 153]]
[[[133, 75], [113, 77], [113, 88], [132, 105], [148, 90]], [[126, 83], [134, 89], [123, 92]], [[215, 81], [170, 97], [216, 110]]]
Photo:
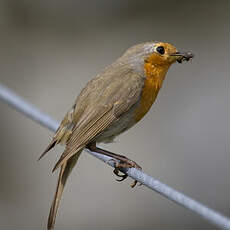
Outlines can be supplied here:
[[138, 122], [151, 108], [168, 70], [168, 68], [155, 67], [151, 63], [145, 63], [144, 69], [146, 79], [139, 105], [134, 111], [136, 122]]

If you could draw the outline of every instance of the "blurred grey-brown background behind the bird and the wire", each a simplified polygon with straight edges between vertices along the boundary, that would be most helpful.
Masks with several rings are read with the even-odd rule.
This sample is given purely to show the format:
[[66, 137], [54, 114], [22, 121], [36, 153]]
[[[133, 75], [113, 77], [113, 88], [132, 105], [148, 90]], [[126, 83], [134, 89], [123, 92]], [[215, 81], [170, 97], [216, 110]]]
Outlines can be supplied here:
[[[62, 119], [86, 82], [133, 44], [194, 52], [169, 70], [147, 116], [106, 148], [230, 216], [230, 2], [0, 2], [0, 80]], [[52, 133], [0, 102], [1, 229], [45, 229], [63, 148], [37, 158]], [[87, 153], [66, 186], [56, 229], [216, 229]]]

